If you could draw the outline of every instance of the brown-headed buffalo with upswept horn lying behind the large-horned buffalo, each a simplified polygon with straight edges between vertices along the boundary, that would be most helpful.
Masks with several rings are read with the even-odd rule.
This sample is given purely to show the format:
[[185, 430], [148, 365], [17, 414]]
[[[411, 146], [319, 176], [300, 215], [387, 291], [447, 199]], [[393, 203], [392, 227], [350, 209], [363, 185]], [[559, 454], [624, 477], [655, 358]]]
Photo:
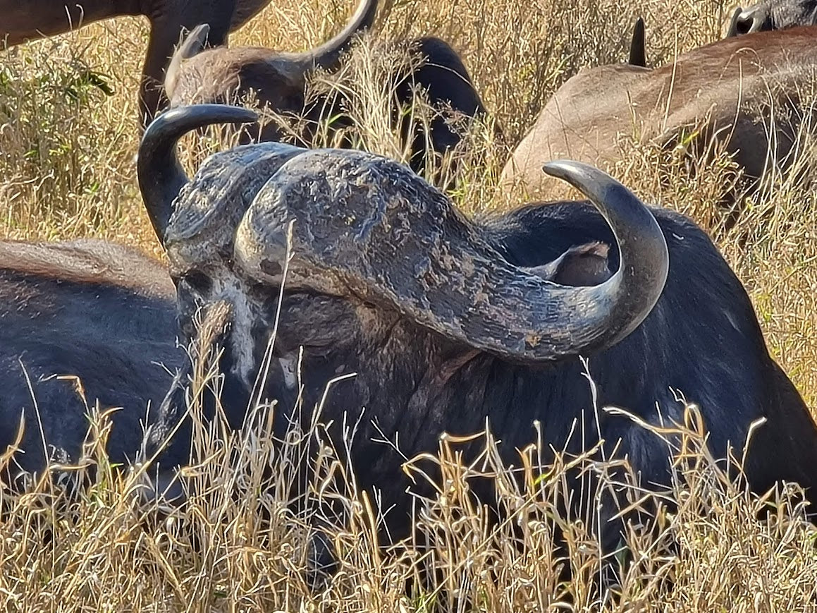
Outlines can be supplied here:
[[[287, 53], [260, 47], [217, 47], [203, 51], [207, 28], [194, 29], [173, 56], [165, 78], [165, 92], [172, 107], [191, 104], [230, 103], [248, 100], [251, 92], [257, 104], [276, 115], [297, 119], [288, 127], [286, 119], [267, 120], [261, 126], [246, 128], [243, 142], [279, 141], [295, 132], [297, 142], [306, 146], [332, 143], [334, 132], [357, 132], [367, 128], [365, 119], [355, 117], [355, 93], [342, 81], [328, 92], [310, 88], [316, 69], [334, 72], [341, 68], [342, 55], [349, 51], [356, 34], [371, 27], [377, 14], [377, 0], [360, 0], [355, 15], [334, 38], [319, 47], [300, 53]], [[407, 43], [407, 44], [406, 44]], [[404, 53], [395, 51], [408, 47]], [[355, 80], [372, 80], [361, 89], [384, 92], [371, 96], [364, 104], [385, 106], [382, 113], [400, 133], [397, 154], [405, 151], [411, 167], [429, 177], [447, 151], [452, 152], [467, 130], [467, 120], [484, 119], [485, 107], [471, 76], [453, 48], [440, 38], [418, 38], [396, 42], [373, 51], [385, 57], [369, 60], [372, 66], [388, 63], [386, 70], [366, 70]], [[348, 58], [347, 58], [348, 60]], [[392, 65], [391, 62], [394, 62]], [[430, 110], [423, 111], [427, 96]], [[464, 121], [465, 120], [465, 121]], [[300, 123], [300, 125], [299, 125]], [[458, 125], [459, 123], [459, 125]], [[465, 125], [463, 125], [465, 124]], [[328, 135], [322, 134], [328, 125]], [[347, 146], [358, 143], [341, 141]]]

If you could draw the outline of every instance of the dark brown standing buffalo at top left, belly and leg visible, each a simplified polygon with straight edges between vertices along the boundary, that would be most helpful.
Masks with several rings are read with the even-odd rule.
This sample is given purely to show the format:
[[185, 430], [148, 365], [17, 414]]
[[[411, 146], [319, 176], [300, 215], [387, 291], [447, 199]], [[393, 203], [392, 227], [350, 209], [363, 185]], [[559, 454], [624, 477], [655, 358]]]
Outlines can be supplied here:
[[173, 48], [184, 30], [210, 25], [209, 43], [226, 43], [270, 0], [0, 0], [0, 44], [63, 34], [79, 25], [125, 15], [150, 20], [150, 41], [140, 87], [141, 118], [146, 126], [164, 105], [161, 83]]

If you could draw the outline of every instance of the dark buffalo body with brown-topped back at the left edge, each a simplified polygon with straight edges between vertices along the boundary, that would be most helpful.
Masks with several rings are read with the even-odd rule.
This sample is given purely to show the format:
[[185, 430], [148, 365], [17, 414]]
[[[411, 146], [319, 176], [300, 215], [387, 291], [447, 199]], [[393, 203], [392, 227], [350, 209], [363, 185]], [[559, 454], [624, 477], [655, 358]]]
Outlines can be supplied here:
[[113, 462], [136, 459], [144, 427], [167, 436], [173, 423], [158, 407], [183, 365], [176, 336], [173, 285], [149, 257], [97, 240], [0, 243], [0, 449], [25, 419], [12, 479], [42, 471], [43, 440], [49, 459], [75, 463], [97, 401], [123, 407], [112, 415]]

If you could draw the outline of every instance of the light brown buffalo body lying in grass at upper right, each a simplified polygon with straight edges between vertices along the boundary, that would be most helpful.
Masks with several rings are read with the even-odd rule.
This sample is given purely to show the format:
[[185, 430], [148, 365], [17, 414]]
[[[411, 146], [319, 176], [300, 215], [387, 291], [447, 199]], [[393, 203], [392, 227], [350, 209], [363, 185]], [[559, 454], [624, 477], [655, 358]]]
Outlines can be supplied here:
[[699, 47], [655, 69], [583, 69], [547, 102], [506, 163], [502, 182], [556, 199], [564, 187], [542, 176], [542, 163], [569, 157], [612, 165], [623, 155], [619, 140], [635, 137], [693, 151], [723, 142], [743, 168], [743, 188], [755, 189], [773, 163], [788, 168], [797, 131], [806, 125], [815, 36], [814, 27], [760, 32]]

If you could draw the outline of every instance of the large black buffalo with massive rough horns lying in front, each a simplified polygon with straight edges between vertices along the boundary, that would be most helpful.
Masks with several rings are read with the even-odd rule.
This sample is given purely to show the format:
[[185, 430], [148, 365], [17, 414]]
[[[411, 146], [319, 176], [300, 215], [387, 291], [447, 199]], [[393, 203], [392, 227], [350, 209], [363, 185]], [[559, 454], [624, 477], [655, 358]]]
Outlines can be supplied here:
[[[408, 168], [359, 151], [245, 145], [186, 177], [176, 141], [241, 119], [254, 115], [184, 107], [142, 141], [141, 191], [167, 248], [182, 328], [200, 307], [229, 306], [220, 356], [234, 423], [262, 364], [260, 396], [279, 400], [275, 427], [297, 418], [297, 397], [307, 422], [320, 402], [338, 449], [342, 424], [357, 423], [356, 479], [395, 504], [397, 534], [407, 528], [402, 454], [486, 421], [507, 458], [531, 440], [534, 420], [546, 447], [562, 445], [593, 406], [579, 355], [590, 358], [599, 405], [646, 422], [680, 420], [680, 390], [700, 406], [719, 457], [765, 419], [745, 465], [752, 489], [786, 479], [814, 496], [815, 423], [770, 357], [740, 281], [686, 217], [646, 208], [569, 161], [546, 170], [593, 206], [529, 204], [482, 221]], [[328, 380], [349, 373], [324, 397]], [[173, 396], [167, 414], [181, 414]], [[614, 414], [598, 426], [592, 436], [608, 449], [620, 442], [645, 484], [668, 483], [665, 441]]]

